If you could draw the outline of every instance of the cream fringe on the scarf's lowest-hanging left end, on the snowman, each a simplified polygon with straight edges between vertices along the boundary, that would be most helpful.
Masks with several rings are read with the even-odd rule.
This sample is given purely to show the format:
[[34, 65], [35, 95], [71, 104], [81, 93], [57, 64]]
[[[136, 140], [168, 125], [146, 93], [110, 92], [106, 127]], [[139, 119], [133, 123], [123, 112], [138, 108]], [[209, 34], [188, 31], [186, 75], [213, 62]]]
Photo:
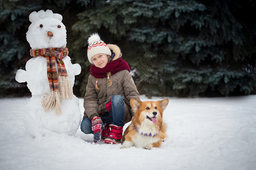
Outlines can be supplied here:
[[59, 92], [51, 91], [48, 96], [43, 96], [42, 106], [45, 112], [49, 112], [50, 109], [55, 109], [56, 116], [59, 116], [61, 113], [60, 107], [60, 94]]

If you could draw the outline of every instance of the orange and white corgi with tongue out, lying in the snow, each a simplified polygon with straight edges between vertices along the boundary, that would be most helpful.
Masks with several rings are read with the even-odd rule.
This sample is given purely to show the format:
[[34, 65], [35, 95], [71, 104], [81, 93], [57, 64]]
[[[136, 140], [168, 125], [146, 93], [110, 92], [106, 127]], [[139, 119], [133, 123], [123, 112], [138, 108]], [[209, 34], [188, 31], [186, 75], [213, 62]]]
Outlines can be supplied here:
[[124, 142], [121, 148], [135, 146], [150, 150], [152, 147], [160, 147], [164, 138], [167, 137], [163, 111], [168, 103], [168, 99], [159, 101], [131, 99], [134, 117], [123, 134]]

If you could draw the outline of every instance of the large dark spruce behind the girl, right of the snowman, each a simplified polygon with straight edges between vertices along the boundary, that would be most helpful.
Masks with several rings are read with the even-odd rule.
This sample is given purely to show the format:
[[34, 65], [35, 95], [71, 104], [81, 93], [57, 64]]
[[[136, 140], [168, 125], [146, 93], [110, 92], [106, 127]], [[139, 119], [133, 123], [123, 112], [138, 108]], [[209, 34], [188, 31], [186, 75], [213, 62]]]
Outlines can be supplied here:
[[77, 49], [92, 32], [121, 46], [141, 94], [251, 94], [255, 25], [238, 14], [254, 9], [251, 1], [108, 1], [80, 13], [73, 31]]

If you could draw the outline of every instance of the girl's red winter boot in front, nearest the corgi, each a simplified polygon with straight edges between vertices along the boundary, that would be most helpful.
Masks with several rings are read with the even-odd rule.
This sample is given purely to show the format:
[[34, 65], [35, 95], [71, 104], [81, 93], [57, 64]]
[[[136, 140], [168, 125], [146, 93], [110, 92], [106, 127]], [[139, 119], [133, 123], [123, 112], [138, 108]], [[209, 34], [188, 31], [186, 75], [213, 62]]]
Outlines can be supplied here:
[[123, 127], [117, 125], [109, 125], [110, 133], [105, 139], [105, 143], [117, 144], [121, 142]]

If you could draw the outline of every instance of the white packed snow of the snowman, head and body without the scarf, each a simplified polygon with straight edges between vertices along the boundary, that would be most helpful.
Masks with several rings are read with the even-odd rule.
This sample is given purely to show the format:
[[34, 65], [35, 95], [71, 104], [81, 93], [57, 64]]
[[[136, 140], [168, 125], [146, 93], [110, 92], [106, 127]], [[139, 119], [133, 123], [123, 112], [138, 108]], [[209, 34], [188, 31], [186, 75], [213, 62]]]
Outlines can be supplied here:
[[[67, 44], [65, 25], [61, 22], [62, 16], [53, 14], [51, 10], [32, 12], [31, 25], [27, 32], [27, 41], [32, 49], [65, 48]], [[72, 64], [71, 58], [63, 58], [65, 69], [71, 86], [75, 83], [75, 75], [80, 74], [81, 66]], [[79, 100], [75, 95], [71, 99], [61, 99], [61, 114], [56, 116], [54, 109], [45, 112], [42, 107], [44, 95], [49, 95], [50, 87], [47, 78], [47, 59], [32, 57], [26, 63], [26, 71], [19, 69], [15, 79], [18, 82], [27, 82], [32, 97], [27, 103], [23, 114], [24, 127], [32, 137], [41, 138], [51, 133], [74, 135], [79, 128], [81, 113]]]

